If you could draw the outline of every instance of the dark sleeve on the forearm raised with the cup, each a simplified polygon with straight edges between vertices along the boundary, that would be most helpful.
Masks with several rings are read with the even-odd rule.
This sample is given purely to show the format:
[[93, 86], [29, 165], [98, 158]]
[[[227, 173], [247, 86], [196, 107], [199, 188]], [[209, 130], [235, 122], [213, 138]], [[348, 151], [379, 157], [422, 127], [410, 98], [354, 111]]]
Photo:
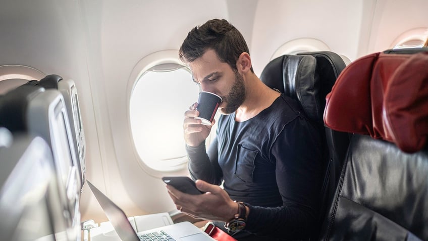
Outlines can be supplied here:
[[189, 158], [188, 168], [193, 180], [201, 179], [211, 184], [222, 183], [222, 169], [218, 162], [217, 137], [210, 143], [208, 152], [205, 151], [205, 141], [198, 147], [186, 145]]

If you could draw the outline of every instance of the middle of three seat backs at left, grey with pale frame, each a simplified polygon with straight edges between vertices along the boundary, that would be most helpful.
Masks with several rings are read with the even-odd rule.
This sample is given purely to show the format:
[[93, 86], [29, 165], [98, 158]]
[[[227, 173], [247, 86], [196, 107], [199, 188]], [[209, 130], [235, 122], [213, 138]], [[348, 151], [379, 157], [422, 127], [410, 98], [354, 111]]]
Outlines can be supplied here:
[[74, 142], [63, 95], [55, 89], [47, 89], [36, 95], [29, 103], [27, 126], [30, 133], [46, 139], [57, 164], [57, 173], [67, 189], [73, 226], [80, 226], [79, 160], [74, 151]]

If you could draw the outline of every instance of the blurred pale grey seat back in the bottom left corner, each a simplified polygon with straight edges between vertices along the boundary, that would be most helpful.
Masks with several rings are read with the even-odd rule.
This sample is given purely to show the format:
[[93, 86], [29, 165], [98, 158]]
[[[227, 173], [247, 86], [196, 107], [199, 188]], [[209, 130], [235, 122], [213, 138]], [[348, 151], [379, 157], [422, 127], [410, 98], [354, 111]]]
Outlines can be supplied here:
[[0, 127], [0, 240], [76, 240], [46, 141]]

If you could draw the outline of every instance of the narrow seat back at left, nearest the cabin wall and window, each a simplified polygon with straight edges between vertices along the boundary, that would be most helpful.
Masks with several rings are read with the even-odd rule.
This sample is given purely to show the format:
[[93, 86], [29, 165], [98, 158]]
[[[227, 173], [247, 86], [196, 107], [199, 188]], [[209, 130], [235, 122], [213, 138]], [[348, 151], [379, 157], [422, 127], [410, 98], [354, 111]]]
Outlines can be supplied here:
[[63, 77], [57, 74], [46, 75], [44, 78], [40, 79], [38, 84], [46, 89], [58, 89], [63, 95], [73, 136], [74, 151], [76, 153], [76, 157], [79, 159], [77, 162], [77, 168], [79, 170], [81, 183], [80, 191], [82, 191], [86, 178], [86, 141], [80, 115], [80, 106], [76, 84], [72, 79], [63, 79]]

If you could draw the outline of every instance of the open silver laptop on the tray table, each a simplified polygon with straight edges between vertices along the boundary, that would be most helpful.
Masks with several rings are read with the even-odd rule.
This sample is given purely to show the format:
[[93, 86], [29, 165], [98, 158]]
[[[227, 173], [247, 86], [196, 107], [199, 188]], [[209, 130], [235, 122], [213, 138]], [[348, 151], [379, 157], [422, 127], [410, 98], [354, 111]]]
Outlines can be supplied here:
[[[116, 230], [118, 236], [123, 241], [139, 241], [139, 240], [168, 240], [168, 241], [204, 241], [214, 240], [204, 231], [190, 222], [174, 223], [167, 226], [162, 226], [154, 229], [149, 229], [142, 232], [136, 232], [129, 222], [125, 212], [119, 208], [112, 200], [105, 196], [98, 188], [96, 188], [89, 180], [86, 179], [89, 187], [92, 190], [96, 200], [109, 218]], [[158, 239], [155, 239], [155, 238]], [[151, 238], [151, 239], [150, 239]]]

